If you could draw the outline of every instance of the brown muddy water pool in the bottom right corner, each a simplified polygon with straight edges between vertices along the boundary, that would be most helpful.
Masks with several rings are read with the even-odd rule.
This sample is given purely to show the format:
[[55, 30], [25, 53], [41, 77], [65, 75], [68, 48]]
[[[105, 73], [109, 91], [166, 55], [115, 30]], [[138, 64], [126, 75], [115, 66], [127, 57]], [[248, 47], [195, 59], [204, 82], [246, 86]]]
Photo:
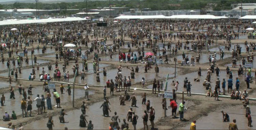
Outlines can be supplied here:
[[[256, 107], [250, 106], [251, 109], [251, 118], [252, 121], [255, 119], [256, 116]], [[229, 122], [222, 122], [222, 113], [221, 111], [227, 112], [229, 115]], [[248, 127], [248, 121], [245, 117], [245, 109], [243, 106], [236, 106], [236, 107], [228, 107], [225, 109], [214, 111], [206, 117], [202, 117], [196, 121], [196, 128], [197, 129], [228, 129], [229, 123], [232, 122], [233, 119], [237, 120], [238, 129], [256, 129], [255, 123], [252, 122], [253, 127]], [[181, 127], [179, 129], [189, 129], [190, 124]]]

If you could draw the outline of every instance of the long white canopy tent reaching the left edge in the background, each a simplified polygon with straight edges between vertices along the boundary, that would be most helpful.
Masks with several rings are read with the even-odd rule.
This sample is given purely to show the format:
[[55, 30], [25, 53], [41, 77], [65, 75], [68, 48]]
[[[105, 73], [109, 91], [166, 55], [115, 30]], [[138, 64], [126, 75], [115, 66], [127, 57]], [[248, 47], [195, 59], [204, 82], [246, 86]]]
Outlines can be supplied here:
[[66, 18], [46, 18], [46, 19], [9, 19], [0, 21], [0, 25], [12, 25], [12, 24], [30, 24], [30, 23], [47, 23], [47, 22], [64, 22], [64, 21], [82, 21], [86, 18], [80, 17], [66, 17]]

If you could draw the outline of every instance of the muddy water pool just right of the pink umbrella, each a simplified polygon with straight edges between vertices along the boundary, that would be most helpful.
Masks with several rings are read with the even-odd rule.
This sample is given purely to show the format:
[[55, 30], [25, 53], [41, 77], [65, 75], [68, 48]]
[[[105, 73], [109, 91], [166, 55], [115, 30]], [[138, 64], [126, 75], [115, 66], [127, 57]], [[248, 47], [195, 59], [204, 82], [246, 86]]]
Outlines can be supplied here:
[[[208, 58], [209, 58], [209, 56], [212, 56], [212, 55], [214, 55], [214, 54], [200, 54], [200, 60], [199, 60], [199, 63], [200, 64], [203, 64], [203, 63], [208, 63], [209, 62], [209, 60], [208, 60]], [[194, 58], [195, 58], [195, 64], [196, 64], [196, 54], [185, 54], [185, 56], [187, 57], [188, 56], [188, 58], [189, 58], [189, 60], [191, 60], [191, 57], [192, 56], [194, 56]], [[225, 56], [223, 57], [223, 59], [224, 58], [228, 58], [228, 57], [232, 57], [232, 55], [230, 55], [230, 54], [225, 54]], [[176, 57], [177, 59], [178, 59], [178, 61], [182, 61], [182, 55], [179, 55], [179, 56], [177, 56]], [[220, 60], [220, 55], [216, 55], [216, 60]]]

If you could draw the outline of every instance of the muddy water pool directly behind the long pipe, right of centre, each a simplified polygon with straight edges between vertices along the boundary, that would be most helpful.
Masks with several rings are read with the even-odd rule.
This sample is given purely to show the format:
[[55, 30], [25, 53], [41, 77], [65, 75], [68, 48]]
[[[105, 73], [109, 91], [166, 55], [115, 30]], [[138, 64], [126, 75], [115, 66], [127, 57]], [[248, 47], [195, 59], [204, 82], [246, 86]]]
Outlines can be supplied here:
[[[198, 76], [197, 72], [187, 73], [187, 74], [184, 74], [184, 75], [178, 75], [178, 76], [176, 76], [176, 79], [168, 80], [168, 88], [167, 89], [168, 90], [175, 89], [175, 86], [172, 86], [171, 83], [172, 83], [172, 81], [174, 81], [174, 83], [176, 83], [176, 81], [178, 81], [179, 86], [178, 86], [177, 91], [178, 92], [184, 91], [185, 93], [187, 93], [187, 89], [183, 88], [183, 85], [184, 85], [185, 77], [188, 77], [188, 80], [190, 81], [190, 83], [192, 85], [191, 86], [191, 92], [192, 93], [205, 93], [206, 94], [206, 90], [205, 90], [205, 87], [203, 86], [203, 82], [206, 78], [207, 71], [202, 71], [201, 73], [202, 73], [202, 76]], [[235, 87], [235, 84], [236, 84], [235, 78], [238, 77], [238, 73], [235, 72], [235, 71], [233, 71], [232, 73], [233, 73], [233, 84], [234, 84], [233, 88], [236, 88]], [[226, 94], [227, 94], [227, 80], [228, 80], [229, 75], [226, 75], [226, 71], [221, 71], [221, 73], [219, 75], [220, 75], [219, 80], [221, 81], [221, 83], [222, 83], [223, 79], [225, 79], [225, 81], [226, 81]], [[200, 82], [194, 82], [195, 77], [198, 77], [200, 79]], [[216, 74], [213, 74], [211, 76], [211, 82], [212, 82], [211, 86], [212, 86], [213, 90], [214, 90], [215, 85], [216, 85], [215, 84], [216, 80], [217, 80], [217, 76], [216, 76]], [[164, 83], [164, 85], [166, 84], [165, 81], [163, 83]], [[152, 89], [152, 85], [147, 86], [147, 87], [149, 89]], [[221, 92], [223, 92], [222, 88], [221, 88]]]

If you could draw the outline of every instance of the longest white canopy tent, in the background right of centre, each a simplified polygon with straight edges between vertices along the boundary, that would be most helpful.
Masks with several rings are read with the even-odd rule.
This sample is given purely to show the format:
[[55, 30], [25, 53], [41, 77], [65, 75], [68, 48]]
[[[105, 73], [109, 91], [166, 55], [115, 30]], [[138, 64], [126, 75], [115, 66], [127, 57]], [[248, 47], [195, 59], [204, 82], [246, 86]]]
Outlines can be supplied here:
[[228, 18], [225, 16], [214, 16], [214, 15], [122, 15], [115, 19], [221, 19]]

